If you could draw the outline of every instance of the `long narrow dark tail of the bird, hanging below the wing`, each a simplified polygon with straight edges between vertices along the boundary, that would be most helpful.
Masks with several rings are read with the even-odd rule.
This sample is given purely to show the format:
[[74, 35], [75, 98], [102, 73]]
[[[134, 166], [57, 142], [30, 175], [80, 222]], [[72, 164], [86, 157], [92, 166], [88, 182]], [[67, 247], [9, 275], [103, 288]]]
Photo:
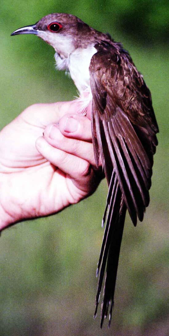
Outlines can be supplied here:
[[[117, 181], [117, 177], [113, 171], [109, 193], [107, 197], [107, 205], [103, 217], [103, 224], [106, 219], [105, 232], [102, 242], [100, 258], [98, 262], [97, 275], [99, 274], [98, 291], [96, 296], [96, 310], [94, 318], [97, 314], [104, 272], [106, 268], [105, 285], [103, 291], [103, 301], [101, 309], [101, 328], [104, 319], [108, 315], [109, 305], [109, 327], [111, 323], [111, 315], [114, 304], [114, 291], [116, 284], [118, 260], [120, 254], [120, 246], [123, 235], [124, 220], [126, 214], [126, 205], [122, 197], [122, 193]], [[107, 262], [107, 267], [106, 267]], [[100, 272], [99, 272], [100, 269]]]

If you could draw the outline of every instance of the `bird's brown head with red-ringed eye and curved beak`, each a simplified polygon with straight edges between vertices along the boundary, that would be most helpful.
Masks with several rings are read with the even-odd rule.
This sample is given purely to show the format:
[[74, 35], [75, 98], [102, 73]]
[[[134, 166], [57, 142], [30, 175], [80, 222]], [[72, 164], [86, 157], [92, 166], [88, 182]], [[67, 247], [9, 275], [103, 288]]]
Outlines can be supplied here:
[[11, 35], [35, 34], [50, 44], [57, 53], [67, 57], [76, 48], [81, 47], [82, 43], [87, 47], [86, 37], [92, 30], [74, 15], [53, 13], [44, 16], [35, 25], [15, 30]]

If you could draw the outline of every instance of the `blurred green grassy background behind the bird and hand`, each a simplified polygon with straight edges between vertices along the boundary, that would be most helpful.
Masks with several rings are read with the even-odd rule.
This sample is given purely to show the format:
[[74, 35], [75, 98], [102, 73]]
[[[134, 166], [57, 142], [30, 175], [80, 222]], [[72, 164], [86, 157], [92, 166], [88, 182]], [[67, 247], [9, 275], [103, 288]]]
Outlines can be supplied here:
[[[151, 202], [143, 223], [127, 216], [111, 329], [93, 320], [107, 185], [63, 212], [17, 224], [0, 238], [0, 336], [167, 336], [169, 214], [169, 3], [166, 0], [1, 0], [1, 128], [35, 102], [72, 99], [54, 50], [36, 36], [10, 37], [67, 12], [123, 42], [152, 92], [160, 128]], [[106, 321], [105, 321], [106, 322]]]

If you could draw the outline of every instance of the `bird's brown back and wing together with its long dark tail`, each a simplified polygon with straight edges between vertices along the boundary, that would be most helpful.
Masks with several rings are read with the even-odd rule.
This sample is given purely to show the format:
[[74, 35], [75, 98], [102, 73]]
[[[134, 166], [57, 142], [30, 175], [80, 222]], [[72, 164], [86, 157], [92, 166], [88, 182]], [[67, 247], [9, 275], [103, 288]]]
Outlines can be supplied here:
[[153, 154], [158, 126], [151, 94], [128, 53], [120, 44], [103, 41], [95, 46], [90, 64], [93, 94], [92, 134], [96, 163], [101, 155], [109, 184], [105, 233], [96, 311], [107, 261], [101, 327], [111, 302], [109, 325], [126, 208], [134, 225], [149, 205]]

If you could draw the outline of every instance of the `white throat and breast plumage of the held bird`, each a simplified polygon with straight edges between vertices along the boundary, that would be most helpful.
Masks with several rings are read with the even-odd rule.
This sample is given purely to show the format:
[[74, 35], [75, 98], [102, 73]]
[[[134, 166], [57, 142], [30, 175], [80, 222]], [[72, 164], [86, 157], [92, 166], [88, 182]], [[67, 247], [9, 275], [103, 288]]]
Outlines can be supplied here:
[[71, 35], [41, 31], [38, 36], [55, 49], [56, 69], [65, 70], [66, 73], [70, 74], [78, 90], [79, 97], [75, 97], [79, 101], [78, 112], [85, 115], [87, 107], [92, 101], [89, 66], [97, 49], [94, 45], [75, 49]]

